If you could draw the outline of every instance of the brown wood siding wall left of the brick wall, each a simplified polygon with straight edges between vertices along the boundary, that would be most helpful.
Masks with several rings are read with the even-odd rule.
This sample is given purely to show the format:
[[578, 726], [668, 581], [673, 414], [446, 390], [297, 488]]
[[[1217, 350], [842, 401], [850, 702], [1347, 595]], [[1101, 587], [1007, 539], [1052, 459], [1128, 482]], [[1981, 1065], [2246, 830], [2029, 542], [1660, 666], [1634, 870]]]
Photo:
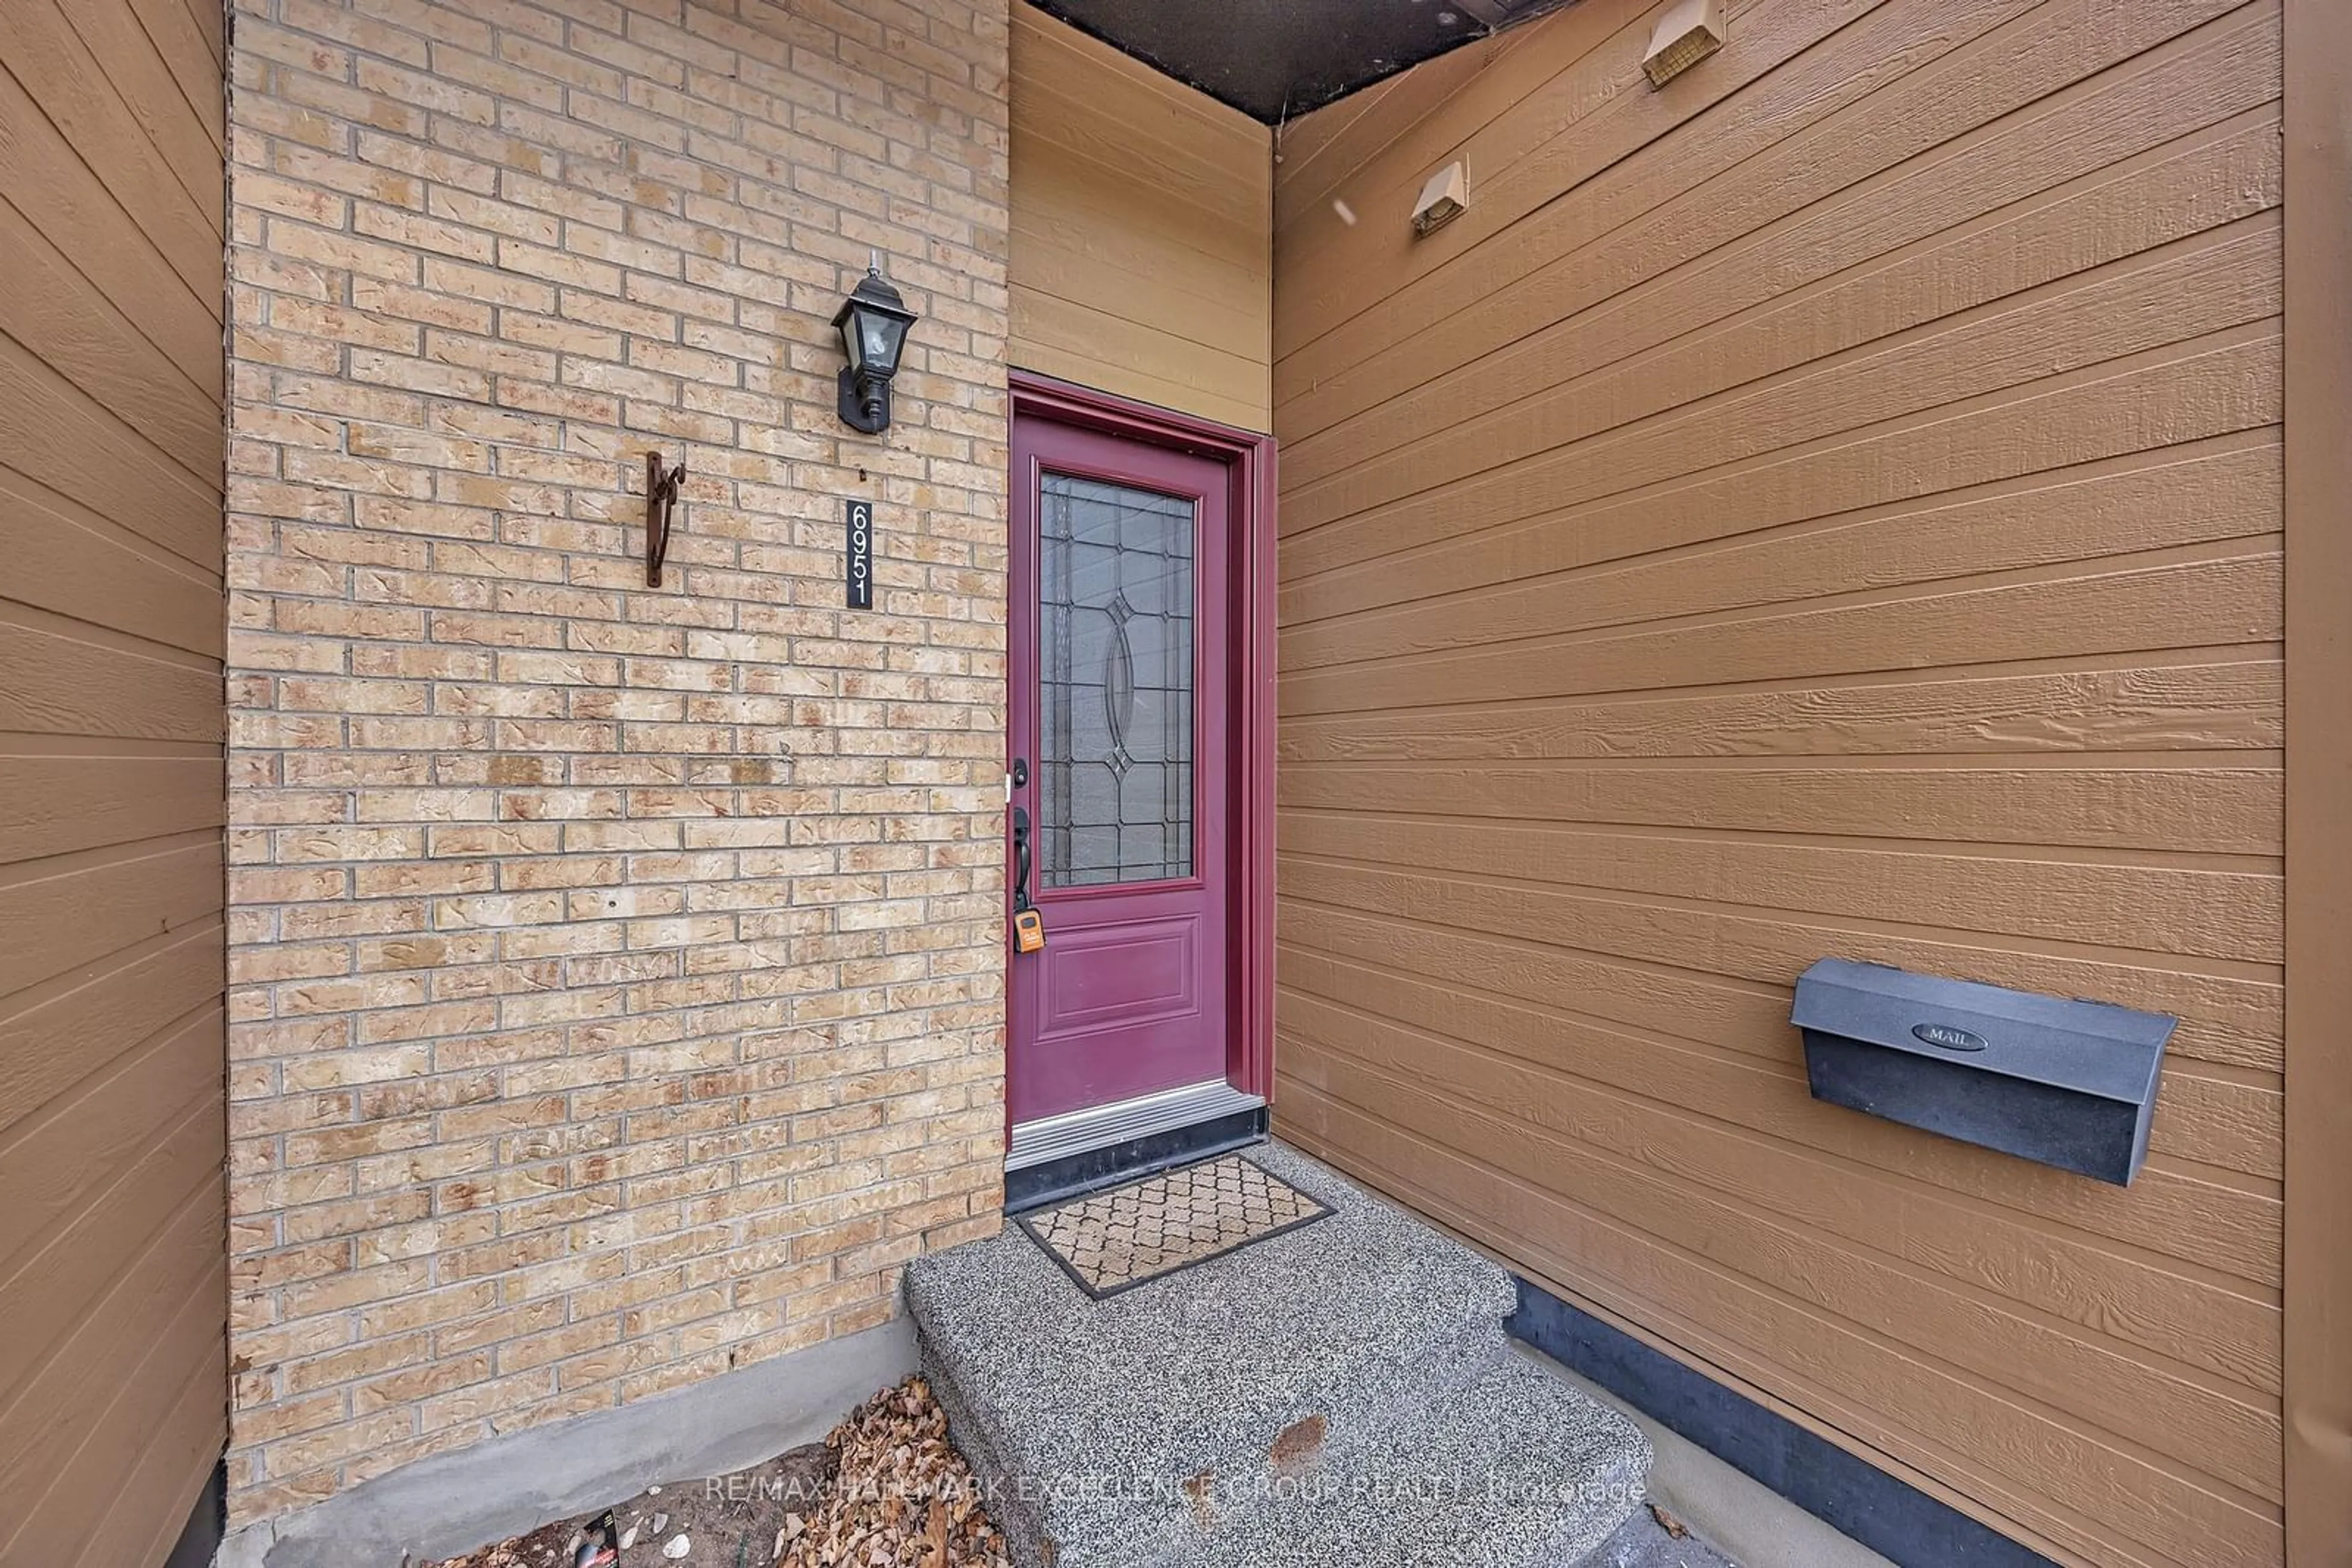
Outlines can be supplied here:
[[0, 7], [0, 1561], [226, 1434], [221, 7]]

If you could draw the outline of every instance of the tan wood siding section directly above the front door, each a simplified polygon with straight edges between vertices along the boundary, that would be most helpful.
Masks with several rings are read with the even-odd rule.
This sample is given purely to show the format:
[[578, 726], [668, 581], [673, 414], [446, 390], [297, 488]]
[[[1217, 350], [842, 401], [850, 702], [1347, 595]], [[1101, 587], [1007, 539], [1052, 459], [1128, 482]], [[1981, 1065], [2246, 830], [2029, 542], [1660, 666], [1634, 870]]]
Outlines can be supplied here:
[[1011, 7], [1011, 362], [1270, 428], [1272, 136]]

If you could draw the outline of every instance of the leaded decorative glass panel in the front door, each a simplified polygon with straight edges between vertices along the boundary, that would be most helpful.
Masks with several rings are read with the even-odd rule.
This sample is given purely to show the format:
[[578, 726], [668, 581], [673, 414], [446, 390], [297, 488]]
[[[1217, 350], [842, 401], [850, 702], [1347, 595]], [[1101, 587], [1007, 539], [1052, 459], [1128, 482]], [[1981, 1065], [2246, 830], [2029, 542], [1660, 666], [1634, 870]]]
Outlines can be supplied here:
[[1190, 877], [1192, 503], [1047, 473], [1037, 512], [1040, 879]]

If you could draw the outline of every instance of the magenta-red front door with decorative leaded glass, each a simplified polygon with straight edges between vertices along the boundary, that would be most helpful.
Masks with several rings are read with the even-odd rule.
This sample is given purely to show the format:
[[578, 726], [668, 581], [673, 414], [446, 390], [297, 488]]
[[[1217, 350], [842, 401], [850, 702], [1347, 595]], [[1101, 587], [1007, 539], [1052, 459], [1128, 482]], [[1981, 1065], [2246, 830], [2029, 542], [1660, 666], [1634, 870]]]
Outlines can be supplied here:
[[[1230, 470], [1016, 418], [1011, 1121], [1225, 1074]], [[1025, 879], [1023, 879], [1025, 872]]]

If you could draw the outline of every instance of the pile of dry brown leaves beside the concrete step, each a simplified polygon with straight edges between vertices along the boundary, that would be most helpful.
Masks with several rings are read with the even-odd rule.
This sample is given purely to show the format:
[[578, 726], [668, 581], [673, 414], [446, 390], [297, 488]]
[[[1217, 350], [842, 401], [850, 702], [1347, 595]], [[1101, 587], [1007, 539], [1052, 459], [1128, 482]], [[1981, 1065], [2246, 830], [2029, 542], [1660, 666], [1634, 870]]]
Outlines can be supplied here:
[[1011, 1568], [922, 1378], [868, 1399], [826, 1443], [840, 1458], [833, 1488], [786, 1516], [779, 1568]]

